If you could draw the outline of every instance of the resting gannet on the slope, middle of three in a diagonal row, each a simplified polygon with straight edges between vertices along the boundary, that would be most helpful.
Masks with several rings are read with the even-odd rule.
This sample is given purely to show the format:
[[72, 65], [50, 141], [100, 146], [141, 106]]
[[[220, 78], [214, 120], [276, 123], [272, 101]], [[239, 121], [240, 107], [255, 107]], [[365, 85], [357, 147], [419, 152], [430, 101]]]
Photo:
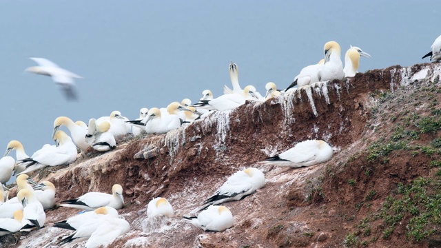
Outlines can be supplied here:
[[249, 167], [229, 176], [227, 181], [219, 187], [214, 195], [203, 203], [202, 209], [207, 205], [217, 205], [230, 200], [240, 200], [265, 185], [265, 175], [260, 169]]

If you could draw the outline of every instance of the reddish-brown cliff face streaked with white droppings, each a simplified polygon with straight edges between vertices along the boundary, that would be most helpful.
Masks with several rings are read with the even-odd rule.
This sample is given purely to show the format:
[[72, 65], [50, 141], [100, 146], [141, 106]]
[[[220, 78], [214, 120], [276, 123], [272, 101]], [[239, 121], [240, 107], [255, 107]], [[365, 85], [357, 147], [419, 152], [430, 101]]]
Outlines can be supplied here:
[[[111, 247], [427, 247], [438, 242], [436, 223], [424, 226], [435, 231], [416, 240], [407, 231], [412, 214], [403, 210], [400, 221], [391, 225], [386, 218], [394, 211], [384, 203], [400, 195], [393, 193], [400, 183], [437, 178], [438, 168], [430, 163], [440, 151], [431, 144], [441, 124], [430, 132], [419, 126], [423, 118], [438, 116], [433, 111], [441, 102], [440, 74], [439, 64], [397, 65], [318, 83], [216, 112], [167, 134], [133, 138], [112, 152], [90, 152], [68, 167], [45, 169], [36, 179], [54, 183], [58, 201], [91, 191], [110, 193], [114, 183], [121, 184], [126, 204], [119, 213], [132, 229]], [[394, 141], [400, 128], [403, 137]], [[407, 138], [412, 131], [418, 138]], [[331, 161], [300, 169], [256, 165], [311, 138], [334, 147]], [[391, 149], [400, 141], [409, 141], [408, 146]], [[243, 200], [225, 203], [234, 227], [205, 233], [182, 220], [196, 215], [228, 176], [250, 166], [263, 170], [266, 184]], [[147, 203], [158, 196], [173, 205], [174, 218], [147, 220]], [[48, 211], [45, 227], [22, 236], [17, 246], [57, 247], [67, 232], [52, 223], [77, 212], [65, 207]]]

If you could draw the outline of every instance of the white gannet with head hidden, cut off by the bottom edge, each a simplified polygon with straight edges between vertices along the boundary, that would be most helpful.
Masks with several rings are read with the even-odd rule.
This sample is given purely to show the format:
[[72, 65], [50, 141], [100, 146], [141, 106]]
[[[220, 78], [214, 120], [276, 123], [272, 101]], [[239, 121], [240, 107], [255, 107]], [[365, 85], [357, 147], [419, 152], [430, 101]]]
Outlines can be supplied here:
[[107, 218], [90, 236], [88, 242], [85, 243], [85, 248], [96, 248], [103, 244], [110, 244], [127, 231], [130, 231], [130, 224], [127, 220]]

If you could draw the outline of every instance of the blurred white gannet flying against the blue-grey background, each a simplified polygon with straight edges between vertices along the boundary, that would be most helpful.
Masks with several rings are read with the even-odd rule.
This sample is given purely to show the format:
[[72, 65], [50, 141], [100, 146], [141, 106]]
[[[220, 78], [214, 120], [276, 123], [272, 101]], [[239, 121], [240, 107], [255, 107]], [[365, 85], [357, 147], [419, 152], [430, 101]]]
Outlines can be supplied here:
[[68, 70], [60, 68], [58, 65], [48, 59], [30, 58], [39, 66], [32, 66], [26, 69], [26, 72], [51, 76], [52, 80], [60, 86], [60, 89], [65, 94], [68, 100], [77, 100], [78, 96], [75, 90], [74, 78], [81, 79], [81, 76], [74, 74]]

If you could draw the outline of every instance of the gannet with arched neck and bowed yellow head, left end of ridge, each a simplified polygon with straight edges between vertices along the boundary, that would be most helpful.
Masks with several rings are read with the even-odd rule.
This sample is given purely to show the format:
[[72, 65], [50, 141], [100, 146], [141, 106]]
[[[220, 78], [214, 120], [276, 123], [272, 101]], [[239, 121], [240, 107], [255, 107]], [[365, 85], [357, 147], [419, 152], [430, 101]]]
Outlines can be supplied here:
[[53, 136], [61, 126], [68, 127], [72, 140], [81, 149], [81, 152], [85, 152], [85, 150], [90, 147], [85, 141], [85, 134], [88, 132], [88, 130], [85, 130], [85, 128], [81, 125], [76, 125], [74, 121], [66, 116], [60, 116], [55, 119]]

